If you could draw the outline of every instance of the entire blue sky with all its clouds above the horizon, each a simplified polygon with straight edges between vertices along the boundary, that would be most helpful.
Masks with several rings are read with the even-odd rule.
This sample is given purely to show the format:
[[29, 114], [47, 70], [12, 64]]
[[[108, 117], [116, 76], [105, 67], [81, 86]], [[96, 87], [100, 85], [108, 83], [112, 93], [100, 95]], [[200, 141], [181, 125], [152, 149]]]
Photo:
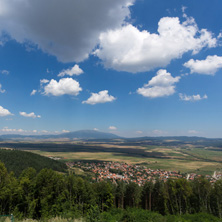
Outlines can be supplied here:
[[0, 134], [222, 136], [220, 0], [0, 0]]

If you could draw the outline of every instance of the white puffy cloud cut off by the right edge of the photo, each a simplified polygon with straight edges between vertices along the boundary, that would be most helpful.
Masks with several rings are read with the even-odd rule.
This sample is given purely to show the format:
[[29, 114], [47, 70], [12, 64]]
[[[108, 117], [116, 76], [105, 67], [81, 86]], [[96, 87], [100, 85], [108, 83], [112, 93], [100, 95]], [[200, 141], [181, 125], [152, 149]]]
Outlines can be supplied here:
[[190, 59], [184, 66], [189, 68], [191, 73], [214, 75], [222, 68], [222, 56], [207, 56], [205, 60]]

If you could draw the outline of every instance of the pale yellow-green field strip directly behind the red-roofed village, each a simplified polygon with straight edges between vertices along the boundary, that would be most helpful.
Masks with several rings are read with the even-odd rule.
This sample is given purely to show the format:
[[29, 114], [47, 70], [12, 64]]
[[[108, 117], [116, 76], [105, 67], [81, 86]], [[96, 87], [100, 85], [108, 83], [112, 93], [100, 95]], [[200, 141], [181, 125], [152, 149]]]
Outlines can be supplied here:
[[32, 150], [31, 152], [43, 155], [60, 157], [65, 161], [77, 160], [99, 160], [99, 161], [113, 161], [113, 162], [126, 162], [128, 164], [145, 164], [151, 169], [165, 169], [177, 170], [184, 173], [195, 172], [198, 174], [212, 174], [216, 169], [222, 168], [222, 163], [217, 162], [204, 162], [193, 160], [180, 160], [180, 159], [161, 159], [161, 158], [138, 158], [129, 156], [120, 156], [115, 153], [90, 153], [90, 152], [42, 152], [39, 150]]

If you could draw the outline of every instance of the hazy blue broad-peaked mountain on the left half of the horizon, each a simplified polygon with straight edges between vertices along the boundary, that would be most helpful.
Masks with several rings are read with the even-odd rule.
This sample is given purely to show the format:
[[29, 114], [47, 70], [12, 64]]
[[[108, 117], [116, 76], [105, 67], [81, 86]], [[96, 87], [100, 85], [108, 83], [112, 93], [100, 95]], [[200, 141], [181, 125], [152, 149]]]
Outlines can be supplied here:
[[70, 140], [90, 140], [90, 139], [120, 139], [121, 137], [113, 133], [104, 133], [97, 130], [79, 130], [69, 133], [53, 134], [53, 135], [19, 135], [19, 134], [7, 134], [1, 135], [0, 140], [7, 139], [70, 139]]

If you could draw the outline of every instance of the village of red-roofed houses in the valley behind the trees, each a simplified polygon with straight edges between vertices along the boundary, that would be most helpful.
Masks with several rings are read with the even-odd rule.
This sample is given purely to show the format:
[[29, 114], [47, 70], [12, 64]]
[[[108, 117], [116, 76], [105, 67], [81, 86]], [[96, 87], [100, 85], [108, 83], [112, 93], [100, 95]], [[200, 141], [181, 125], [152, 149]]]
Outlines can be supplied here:
[[[126, 183], [134, 182], [139, 186], [144, 185], [147, 181], [161, 180], [166, 182], [168, 179], [185, 178], [187, 180], [194, 180], [201, 177], [201, 175], [190, 173], [182, 174], [178, 171], [167, 171], [162, 169], [150, 169], [143, 165], [133, 165], [119, 162], [68, 162], [69, 168], [77, 167], [84, 171], [89, 171], [95, 174], [92, 178], [94, 181], [110, 180], [116, 183], [122, 180]], [[221, 178], [220, 172], [214, 172], [213, 176], [205, 176], [211, 183], [216, 182]]]

